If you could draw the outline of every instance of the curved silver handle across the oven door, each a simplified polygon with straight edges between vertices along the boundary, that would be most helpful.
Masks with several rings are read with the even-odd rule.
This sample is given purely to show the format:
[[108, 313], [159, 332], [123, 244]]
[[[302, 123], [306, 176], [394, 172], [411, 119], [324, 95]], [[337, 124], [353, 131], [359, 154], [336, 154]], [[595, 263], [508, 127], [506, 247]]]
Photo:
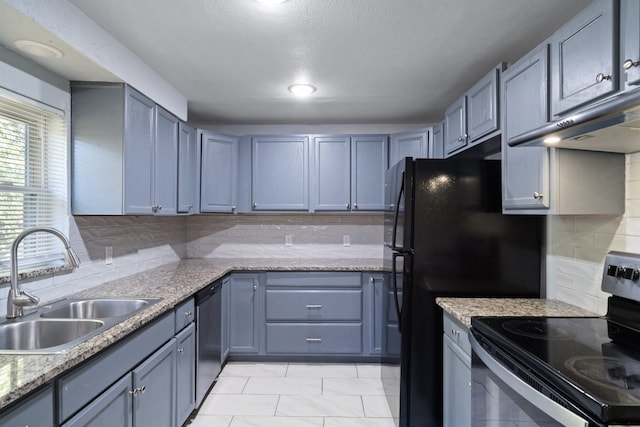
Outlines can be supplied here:
[[589, 427], [589, 422], [577, 414], [569, 411], [564, 406], [559, 405], [549, 399], [544, 394], [531, 388], [527, 383], [518, 378], [514, 373], [502, 366], [494, 359], [475, 339], [473, 334], [469, 334], [471, 349], [482, 360], [482, 362], [520, 396], [527, 399], [545, 414], [567, 427]]

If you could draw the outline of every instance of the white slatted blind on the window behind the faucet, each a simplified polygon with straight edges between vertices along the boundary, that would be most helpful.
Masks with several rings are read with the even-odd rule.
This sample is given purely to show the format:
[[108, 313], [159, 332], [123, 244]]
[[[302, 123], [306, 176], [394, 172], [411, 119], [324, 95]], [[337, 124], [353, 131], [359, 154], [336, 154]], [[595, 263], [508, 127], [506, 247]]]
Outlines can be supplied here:
[[[8, 275], [11, 243], [32, 227], [68, 233], [67, 129], [62, 114], [0, 92], [0, 275]], [[20, 272], [64, 264], [49, 233], [19, 246]]]

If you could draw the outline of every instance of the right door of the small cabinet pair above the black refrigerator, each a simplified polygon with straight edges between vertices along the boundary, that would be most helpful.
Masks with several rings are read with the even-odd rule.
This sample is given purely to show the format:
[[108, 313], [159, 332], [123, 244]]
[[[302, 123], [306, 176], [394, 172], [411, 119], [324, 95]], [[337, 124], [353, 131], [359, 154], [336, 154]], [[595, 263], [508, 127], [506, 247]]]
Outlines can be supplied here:
[[496, 68], [467, 92], [467, 135], [475, 141], [498, 130], [498, 78]]

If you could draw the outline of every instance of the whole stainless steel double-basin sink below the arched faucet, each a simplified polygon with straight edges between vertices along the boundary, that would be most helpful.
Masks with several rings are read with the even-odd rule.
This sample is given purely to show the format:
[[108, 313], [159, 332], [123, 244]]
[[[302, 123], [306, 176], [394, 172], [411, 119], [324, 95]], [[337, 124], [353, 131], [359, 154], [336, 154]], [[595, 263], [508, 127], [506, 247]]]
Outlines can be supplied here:
[[63, 300], [0, 324], [0, 354], [61, 353], [150, 307], [154, 298]]

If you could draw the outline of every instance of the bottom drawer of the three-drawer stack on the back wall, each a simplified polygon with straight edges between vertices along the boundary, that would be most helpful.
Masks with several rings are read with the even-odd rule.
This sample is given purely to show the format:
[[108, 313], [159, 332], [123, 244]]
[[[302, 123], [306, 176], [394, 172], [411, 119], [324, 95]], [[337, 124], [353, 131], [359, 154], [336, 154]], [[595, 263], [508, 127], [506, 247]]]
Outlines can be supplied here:
[[361, 354], [362, 324], [267, 323], [267, 353]]

